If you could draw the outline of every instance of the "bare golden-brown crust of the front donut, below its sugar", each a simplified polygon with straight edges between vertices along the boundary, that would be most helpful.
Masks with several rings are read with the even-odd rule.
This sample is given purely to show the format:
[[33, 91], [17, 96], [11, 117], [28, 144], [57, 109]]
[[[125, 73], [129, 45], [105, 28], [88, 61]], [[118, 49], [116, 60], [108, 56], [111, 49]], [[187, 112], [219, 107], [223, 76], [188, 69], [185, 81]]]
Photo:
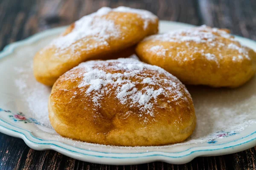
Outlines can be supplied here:
[[[183, 142], [195, 129], [192, 98], [176, 78], [174, 82], [181, 87], [181, 98], [175, 101], [171, 99], [172, 96], [157, 97], [153, 107], [154, 116], [150, 116], [136, 107], [120, 103], [111, 85], [106, 86], [110, 91], [103, 97], [100, 107], [94, 107], [90, 100], [92, 96], [85, 95], [88, 86], [78, 88], [82, 81], [78, 77], [79, 72], [81, 68], [62, 75], [55, 82], [49, 97], [50, 122], [56, 132], [64, 137], [98, 144], [153, 146]], [[72, 81], [68, 78], [71, 74], [77, 76]], [[165, 77], [154, 71], [142, 74], [147, 77]], [[172, 95], [175, 96], [175, 93]]]

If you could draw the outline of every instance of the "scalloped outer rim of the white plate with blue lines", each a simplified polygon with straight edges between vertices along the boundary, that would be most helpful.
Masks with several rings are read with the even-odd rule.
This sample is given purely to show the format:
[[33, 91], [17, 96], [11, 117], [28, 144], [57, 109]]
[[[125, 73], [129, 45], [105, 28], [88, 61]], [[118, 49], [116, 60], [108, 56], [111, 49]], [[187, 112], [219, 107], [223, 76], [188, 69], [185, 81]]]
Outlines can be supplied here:
[[[161, 21], [161, 23], [167, 24], [167, 23], [176, 23], [176, 22]], [[185, 23], [176, 23], [176, 24], [192, 26]], [[20, 47], [23, 45], [29, 45], [34, 42], [37, 42], [38, 40], [41, 40], [44, 37], [57, 34], [63, 31], [64, 28], [66, 27], [53, 28], [47, 31], [43, 31], [41, 33], [37, 33], [31, 37], [26, 38], [25, 40], [21, 40], [19, 42], [15, 42], [10, 45], [7, 45], [3, 49], [3, 51], [0, 52], [0, 59], [12, 54], [15, 51], [15, 48], [17, 47]], [[236, 36], [236, 37], [239, 37], [239, 36]], [[239, 37], [239, 38], [256, 44], [256, 42], [253, 40], [248, 40], [243, 37]], [[162, 152], [162, 151], [150, 151], [150, 152], [141, 152], [141, 153], [107, 153], [107, 152], [99, 152], [99, 151], [93, 151], [93, 150], [85, 150], [85, 149], [73, 147], [69, 144], [64, 144], [62, 142], [55, 141], [55, 140], [40, 139], [38, 137], [35, 137], [32, 134], [32, 132], [29, 130], [12, 125], [1, 118], [0, 118], [0, 121], [3, 122], [3, 124], [0, 124], [0, 132], [10, 136], [22, 138], [29, 147], [35, 150], [52, 149], [60, 153], [63, 153], [64, 155], [73, 157], [75, 159], [79, 159], [82, 161], [90, 161], [94, 163], [102, 163], [102, 164], [140, 164], [140, 163], [146, 163], [150, 161], [166, 161], [169, 163], [183, 164], [191, 161], [197, 156], [209, 156], [209, 155], [216, 156], [216, 155], [235, 153], [241, 150], [249, 149], [250, 147], [253, 147], [256, 145], [256, 131], [255, 131], [240, 139], [236, 139], [236, 140], [226, 142], [226, 143], [221, 143], [221, 144], [214, 144], [212, 146], [207, 146], [207, 149], [202, 149], [204, 147], [191, 147], [187, 150], [183, 150], [180, 152], [173, 152], [173, 153]], [[37, 142], [37, 141], [41, 141], [41, 142]], [[47, 143], [47, 142], [51, 142], [51, 143]], [[242, 144], [247, 144], [247, 145], [244, 147], [236, 148]], [[94, 157], [93, 159], [95, 160], [92, 160], [87, 156]], [[150, 157], [150, 159], [144, 159], [147, 157]], [[177, 160], [178, 158], [183, 158], [183, 159]], [[119, 159], [129, 159], [129, 160], [118, 162]]]

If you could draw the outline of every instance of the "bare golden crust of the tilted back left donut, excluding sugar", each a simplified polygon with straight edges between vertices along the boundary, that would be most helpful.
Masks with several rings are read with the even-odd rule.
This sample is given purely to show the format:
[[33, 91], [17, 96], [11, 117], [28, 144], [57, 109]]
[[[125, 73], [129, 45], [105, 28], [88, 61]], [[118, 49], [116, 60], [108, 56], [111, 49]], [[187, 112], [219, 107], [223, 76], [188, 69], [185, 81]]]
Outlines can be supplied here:
[[[60, 50], [53, 45], [43, 48], [34, 58], [34, 76], [37, 81], [53, 85], [58, 77], [81, 62], [116, 57], [111, 54], [119, 54], [120, 51], [124, 52], [119, 57], [128, 57], [131, 51], [134, 51], [130, 49], [131, 46], [136, 45], [144, 37], [158, 32], [158, 19], [155, 23], [149, 22], [148, 27], [144, 29], [143, 19], [138, 14], [112, 11], [102, 17], [113, 20], [115, 25], [120, 27], [119, 38], [110, 38], [108, 46], [96, 46], [89, 50], [83, 49], [86, 49], [88, 44], [96, 45], [94, 37], [86, 37], [75, 42], [79, 44], [79, 48], [75, 50], [67, 48], [59, 53]], [[69, 34], [73, 28], [74, 24], [67, 28], [63, 35]]]

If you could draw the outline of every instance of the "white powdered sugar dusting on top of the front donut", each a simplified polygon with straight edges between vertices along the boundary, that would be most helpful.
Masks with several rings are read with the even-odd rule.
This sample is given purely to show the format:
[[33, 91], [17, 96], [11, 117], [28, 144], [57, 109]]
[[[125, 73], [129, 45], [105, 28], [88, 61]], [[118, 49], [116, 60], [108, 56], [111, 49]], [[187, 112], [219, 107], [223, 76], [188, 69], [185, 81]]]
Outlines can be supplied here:
[[[86, 90], [87, 96], [92, 96], [95, 107], [100, 107], [102, 97], [108, 94], [107, 85], [111, 84], [116, 89], [116, 98], [119, 102], [129, 105], [131, 108], [138, 107], [143, 113], [154, 116], [153, 106], [157, 102], [157, 97], [161, 94], [169, 97], [170, 100], [187, 100], [181, 91], [182, 85], [180, 81], [169, 74], [167, 71], [154, 65], [148, 65], [137, 59], [117, 59], [107, 61], [88, 61], [83, 62], [72, 70], [81, 69], [83, 81], [78, 85], [79, 88], [88, 86]], [[119, 71], [118, 73], [110, 73], [108, 69]], [[65, 79], [76, 79], [74, 75], [68, 72], [64, 74]], [[148, 77], [151, 74], [145, 71], [155, 72], [155, 76]], [[165, 77], [160, 78], [160, 74]], [[132, 79], [136, 79], [133, 81]], [[137, 88], [142, 85], [143, 88]], [[186, 91], [186, 89], [184, 88]], [[186, 93], [188, 93], [186, 91]]]

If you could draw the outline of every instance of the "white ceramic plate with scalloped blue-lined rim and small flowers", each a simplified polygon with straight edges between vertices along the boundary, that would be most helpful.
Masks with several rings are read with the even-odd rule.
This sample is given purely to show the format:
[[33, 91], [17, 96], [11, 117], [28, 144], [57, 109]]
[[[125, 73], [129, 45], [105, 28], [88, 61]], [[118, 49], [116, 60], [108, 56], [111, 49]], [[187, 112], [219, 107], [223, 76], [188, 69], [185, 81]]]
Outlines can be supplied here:
[[[192, 26], [160, 22], [161, 32], [188, 27]], [[47, 121], [47, 113], [44, 112], [47, 112], [50, 88], [35, 81], [31, 63], [35, 52], [64, 29], [54, 28], [35, 34], [8, 45], [0, 53], [0, 132], [23, 139], [35, 150], [56, 150], [75, 159], [100, 164], [151, 161], [184, 164], [198, 156], [235, 153], [256, 145], [256, 77], [236, 89], [188, 87], [195, 104], [198, 125], [193, 135], [180, 144], [114, 147], [58, 136], [49, 124], [42, 125]], [[256, 42], [236, 38], [255, 49]]]

